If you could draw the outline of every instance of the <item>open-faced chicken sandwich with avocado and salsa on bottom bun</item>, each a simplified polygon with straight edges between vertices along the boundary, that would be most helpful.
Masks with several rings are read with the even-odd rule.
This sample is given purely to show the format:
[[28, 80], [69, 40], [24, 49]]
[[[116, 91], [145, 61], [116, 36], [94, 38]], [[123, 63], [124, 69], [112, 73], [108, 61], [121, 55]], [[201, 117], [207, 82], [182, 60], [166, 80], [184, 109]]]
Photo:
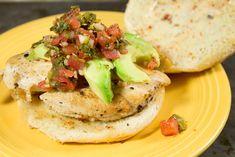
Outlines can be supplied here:
[[3, 81], [27, 121], [60, 142], [101, 143], [134, 136], [156, 117], [170, 79], [153, 46], [79, 7], [57, 18]]

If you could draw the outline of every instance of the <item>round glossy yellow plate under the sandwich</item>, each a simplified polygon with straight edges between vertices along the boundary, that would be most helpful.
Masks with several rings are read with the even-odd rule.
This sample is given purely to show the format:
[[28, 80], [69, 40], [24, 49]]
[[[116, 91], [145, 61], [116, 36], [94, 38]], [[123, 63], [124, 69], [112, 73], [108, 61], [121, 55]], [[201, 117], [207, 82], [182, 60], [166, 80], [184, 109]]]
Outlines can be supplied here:
[[[123, 14], [95, 12], [105, 24], [123, 27]], [[16, 27], [0, 36], [0, 69], [6, 60], [27, 50], [47, 35], [55, 16]], [[113, 144], [60, 144], [38, 130], [30, 129], [21, 117], [10, 92], [0, 84], [0, 155], [2, 156], [195, 156], [219, 135], [229, 115], [231, 92], [221, 65], [201, 73], [170, 75], [163, 107], [154, 122], [135, 137]], [[188, 121], [188, 129], [164, 137], [159, 122], [172, 114]]]

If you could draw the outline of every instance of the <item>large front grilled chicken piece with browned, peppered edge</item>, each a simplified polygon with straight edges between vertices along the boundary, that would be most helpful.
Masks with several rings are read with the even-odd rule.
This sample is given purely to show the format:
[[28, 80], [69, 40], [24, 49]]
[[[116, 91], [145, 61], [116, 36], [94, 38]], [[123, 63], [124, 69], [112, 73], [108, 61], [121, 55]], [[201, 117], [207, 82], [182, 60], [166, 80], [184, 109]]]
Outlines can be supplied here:
[[114, 86], [111, 104], [103, 103], [90, 88], [74, 92], [47, 92], [40, 99], [59, 114], [88, 121], [114, 121], [141, 111], [155, 101], [159, 88], [170, 84], [170, 79], [159, 71], [148, 71], [146, 84], [118, 83]]

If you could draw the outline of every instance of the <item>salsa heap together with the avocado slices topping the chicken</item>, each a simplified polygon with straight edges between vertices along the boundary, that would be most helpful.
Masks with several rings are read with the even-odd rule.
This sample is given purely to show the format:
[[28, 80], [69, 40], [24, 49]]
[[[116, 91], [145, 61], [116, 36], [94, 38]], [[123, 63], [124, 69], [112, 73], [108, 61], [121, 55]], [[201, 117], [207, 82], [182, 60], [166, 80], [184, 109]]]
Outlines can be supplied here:
[[[132, 62], [143, 59], [144, 62], [147, 61], [144, 67], [150, 70], [158, 67], [160, 63], [159, 56], [151, 44], [134, 34], [123, 33], [118, 24], [109, 27], [104, 25], [95, 14], [81, 13], [77, 6], [71, 7], [70, 11], [56, 18], [50, 30], [55, 35], [44, 36], [42, 40], [34, 43], [26, 57], [28, 60], [44, 59], [52, 63], [48, 77], [37, 86], [43, 92], [53, 89], [73, 91], [92, 84], [94, 90], [100, 90], [94, 92], [102, 98], [109, 96], [104, 100], [110, 102], [111, 80], [107, 79], [112, 78], [109, 76], [113, 73], [111, 70], [116, 71], [120, 80], [141, 83], [149, 81], [149, 77]], [[93, 60], [94, 63], [90, 62]], [[116, 60], [118, 61], [115, 62]], [[106, 69], [106, 61], [109, 62], [108, 65], [115, 66], [115, 69]], [[100, 83], [94, 83], [89, 76], [84, 76], [92, 75], [91, 72], [84, 71], [91, 69], [88, 66], [97, 70], [103, 69], [105, 72], [100, 73], [100, 78], [106, 79], [103, 80], [106, 84], [101, 87], [98, 85]], [[132, 74], [128, 72], [127, 66], [132, 67]], [[93, 79], [96, 79], [95, 76]]]

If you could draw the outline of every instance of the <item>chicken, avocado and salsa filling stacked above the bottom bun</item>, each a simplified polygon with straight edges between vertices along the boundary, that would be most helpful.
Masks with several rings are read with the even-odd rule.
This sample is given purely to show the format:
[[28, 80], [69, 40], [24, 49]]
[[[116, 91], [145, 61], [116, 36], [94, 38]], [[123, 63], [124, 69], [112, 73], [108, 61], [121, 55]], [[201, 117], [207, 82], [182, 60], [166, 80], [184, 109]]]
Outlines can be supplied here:
[[118, 24], [71, 7], [50, 30], [7, 62], [3, 80], [16, 99], [37, 94], [62, 116], [107, 122], [142, 111], [170, 84], [155, 48]]

